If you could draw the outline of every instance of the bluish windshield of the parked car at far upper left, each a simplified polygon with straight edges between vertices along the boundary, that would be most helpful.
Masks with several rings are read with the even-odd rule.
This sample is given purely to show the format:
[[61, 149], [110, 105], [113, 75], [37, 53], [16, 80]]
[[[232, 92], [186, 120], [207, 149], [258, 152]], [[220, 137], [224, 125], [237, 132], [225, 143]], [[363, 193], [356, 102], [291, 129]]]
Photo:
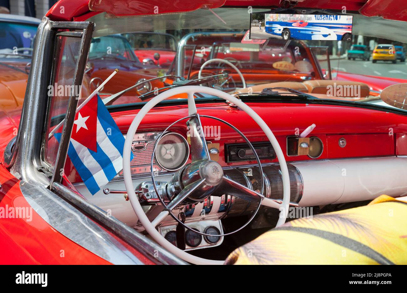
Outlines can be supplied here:
[[0, 58], [31, 58], [37, 27], [0, 21]]

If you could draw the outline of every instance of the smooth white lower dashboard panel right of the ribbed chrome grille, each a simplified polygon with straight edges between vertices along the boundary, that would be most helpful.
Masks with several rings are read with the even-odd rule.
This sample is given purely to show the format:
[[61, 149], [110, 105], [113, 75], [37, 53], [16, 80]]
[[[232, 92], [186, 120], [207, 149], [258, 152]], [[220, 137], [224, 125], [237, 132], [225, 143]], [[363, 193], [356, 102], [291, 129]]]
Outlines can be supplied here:
[[407, 194], [407, 158], [377, 157], [293, 163], [301, 172], [300, 206], [371, 200]]

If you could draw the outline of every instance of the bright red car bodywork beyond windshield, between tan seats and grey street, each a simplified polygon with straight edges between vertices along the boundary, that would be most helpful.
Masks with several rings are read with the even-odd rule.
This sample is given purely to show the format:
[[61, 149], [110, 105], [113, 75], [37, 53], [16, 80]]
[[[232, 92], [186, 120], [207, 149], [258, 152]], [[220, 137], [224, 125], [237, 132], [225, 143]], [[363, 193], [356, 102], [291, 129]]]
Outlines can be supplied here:
[[400, 84], [407, 82], [407, 80], [403, 80], [400, 78], [386, 78], [383, 76], [378, 77], [372, 75], [354, 74], [336, 70], [333, 70], [332, 73], [333, 80], [349, 80], [354, 82], [364, 82], [370, 87], [371, 90], [376, 90], [379, 92], [381, 92], [384, 88], [387, 88], [387, 86], [391, 86], [392, 84]]

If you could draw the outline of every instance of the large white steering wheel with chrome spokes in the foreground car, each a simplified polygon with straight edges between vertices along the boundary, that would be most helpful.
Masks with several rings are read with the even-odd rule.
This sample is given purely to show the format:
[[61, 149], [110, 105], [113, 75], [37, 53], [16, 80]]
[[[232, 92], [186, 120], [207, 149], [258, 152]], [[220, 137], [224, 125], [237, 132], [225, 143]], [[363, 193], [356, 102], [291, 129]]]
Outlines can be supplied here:
[[[200, 119], [199, 119], [199, 114], [197, 113], [197, 108], [195, 106], [195, 100], [194, 100], [194, 94], [195, 93], [205, 93], [208, 95], [213, 95], [216, 97], [220, 97], [222, 99], [231, 101], [234, 103], [236, 106], [241, 108], [243, 111], [245, 111], [252, 119], [260, 126], [260, 128], [263, 130], [263, 132], [266, 134], [267, 138], [271, 142], [271, 145], [274, 148], [274, 151], [276, 153], [276, 156], [278, 158], [278, 161], [280, 162], [280, 168], [281, 168], [281, 175], [282, 175], [282, 183], [283, 183], [283, 200], [282, 203], [277, 203], [271, 198], [266, 198], [263, 196], [263, 194], [260, 194], [254, 190], [251, 190], [243, 185], [240, 185], [239, 183], [236, 183], [224, 176], [222, 172], [222, 168], [217, 162], [210, 161], [209, 160], [209, 152], [206, 146], [206, 141], [204, 137], [200, 136], [195, 136], [197, 137], [196, 139], [192, 139], [191, 136], [191, 158], [192, 161], [198, 162], [199, 160], [201, 162], [204, 162], [205, 166], [212, 166], [216, 165], [219, 166], [220, 170], [217, 167], [217, 170], [219, 172], [212, 172], [212, 176], [206, 176], [208, 172], [201, 172], [198, 174], [201, 178], [190, 185], [186, 186], [175, 198], [173, 198], [170, 203], [167, 204], [167, 207], [171, 207], [170, 209], [167, 209], [165, 211], [162, 211], [152, 222], [147, 218], [147, 215], [144, 213], [140, 202], [138, 200], [138, 197], [136, 196], [136, 192], [134, 190], [133, 182], [131, 180], [131, 170], [130, 170], [130, 154], [131, 154], [131, 144], [133, 142], [133, 137], [136, 134], [136, 131], [138, 129], [138, 126], [140, 125], [140, 122], [142, 121], [142, 118], [146, 116], [146, 114], [158, 103], [163, 101], [164, 99], [167, 99], [168, 97], [172, 97], [174, 95], [179, 95], [179, 94], [184, 94], [187, 93], [188, 95], [188, 116], [195, 116], [194, 118], [191, 118], [190, 122], [192, 121], [195, 126], [201, 126], [200, 125]], [[203, 156], [203, 157], [202, 157]], [[197, 158], [198, 157], [198, 158]], [[205, 159], [206, 157], [206, 159]], [[196, 160], [198, 159], [198, 161]], [[205, 167], [204, 166], [204, 167]], [[210, 169], [211, 170], [211, 169]], [[204, 174], [204, 175], [202, 175]], [[182, 203], [182, 200], [193, 194], [194, 192], [199, 191], [199, 188], [201, 188], [202, 184], [210, 183], [208, 185], [214, 186], [214, 185], [219, 185], [226, 187], [228, 190], [228, 194], [240, 198], [244, 198], [245, 200], [247, 199], [252, 199], [252, 200], [260, 200], [261, 205], [265, 205], [267, 207], [274, 207], [276, 209], [280, 210], [280, 217], [277, 222], [277, 227], [281, 226], [284, 224], [288, 211], [289, 211], [289, 203], [290, 203], [290, 179], [289, 179], [289, 172], [287, 168], [287, 163], [284, 158], [284, 153], [281, 150], [280, 144], [278, 144], [276, 137], [274, 136], [273, 132], [270, 130], [270, 128], [267, 126], [267, 124], [263, 121], [260, 116], [254, 112], [249, 106], [247, 106], [243, 101], [240, 99], [237, 99], [236, 97], [233, 97], [232, 95], [229, 95], [228, 93], [222, 92], [221, 90], [217, 90], [214, 88], [209, 88], [206, 86], [180, 86], [176, 88], [172, 88], [170, 90], [166, 90], [165, 92], [157, 95], [150, 101], [148, 101], [143, 108], [140, 109], [140, 111], [137, 113], [136, 117], [134, 117], [133, 122], [131, 123], [129, 130], [127, 131], [126, 135], [126, 140], [125, 140], [125, 145], [123, 149], [123, 177], [124, 177], [124, 182], [126, 186], [126, 191], [127, 195], [129, 196], [129, 200], [131, 203], [131, 206], [133, 207], [134, 212], [136, 213], [138, 220], [142, 223], [146, 231], [153, 237], [155, 241], [157, 241], [161, 246], [166, 248], [169, 252], [175, 254], [178, 256], [180, 259], [183, 259], [184, 261], [187, 261], [188, 263], [194, 263], [194, 264], [202, 264], [202, 265], [221, 265], [223, 264], [223, 261], [214, 261], [210, 259], [203, 259], [194, 255], [191, 255], [184, 250], [181, 250], [168, 242], [156, 229], [155, 227], [162, 221], [164, 218], [166, 218], [167, 215], [169, 215], [169, 211]], [[204, 182], [206, 181], [206, 182]], [[206, 185], [206, 186], [208, 186]], [[216, 187], [216, 186], [215, 186]], [[196, 195], [196, 194], [195, 194]]]

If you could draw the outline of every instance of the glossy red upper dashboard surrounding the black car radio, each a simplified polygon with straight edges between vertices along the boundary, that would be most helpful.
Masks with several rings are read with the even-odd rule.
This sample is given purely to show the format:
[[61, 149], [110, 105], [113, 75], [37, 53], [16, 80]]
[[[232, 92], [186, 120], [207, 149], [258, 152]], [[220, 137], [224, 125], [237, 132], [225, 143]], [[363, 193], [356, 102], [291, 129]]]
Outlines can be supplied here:
[[[407, 137], [407, 117], [391, 112], [350, 106], [315, 105], [306, 103], [247, 103], [269, 125], [284, 152], [287, 162], [352, 157], [383, 157], [407, 153], [403, 140]], [[245, 112], [226, 103], [197, 103], [203, 126], [219, 129], [206, 134], [207, 142], [219, 143], [219, 164], [242, 166], [256, 164], [255, 160], [227, 162], [225, 145], [245, 142], [229, 126], [202, 115], [220, 118], [239, 129], [250, 142], [267, 142], [260, 127]], [[111, 112], [120, 130], [125, 134], [138, 110]], [[188, 116], [186, 105], [156, 107], [143, 119], [138, 133], [160, 132], [171, 123]], [[315, 129], [308, 137], [316, 136], [322, 141], [322, 153], [317, 158], [308, 155], [287, 155], [287, 137], [298, 135], [309, 125]], [[186, 120], [171, 129], [186, 137]], [[214, 135], [210, 135], [214, 134]], [[340, 146], [339, 140], [346, 145]], [[397, 143], [398, 142], [398, 143]], [[262, 159], [261, 163], [278, 162], [277, 159]], [[146, 166], [147, 167], [147, 166]], [[147, 169], [146, 169], [147, 170]], [[70, 163], [66, 162], [66, 174], [72, 183], [81, 181]]]

